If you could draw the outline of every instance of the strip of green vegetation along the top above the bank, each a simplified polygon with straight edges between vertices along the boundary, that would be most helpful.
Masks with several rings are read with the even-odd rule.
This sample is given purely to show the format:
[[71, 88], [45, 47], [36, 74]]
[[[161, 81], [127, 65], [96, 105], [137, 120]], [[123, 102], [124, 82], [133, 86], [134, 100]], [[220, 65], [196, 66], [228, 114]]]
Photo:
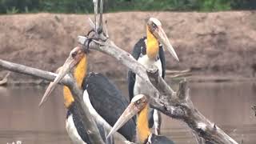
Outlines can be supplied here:
[[[0, 0], [0, 14], [92, 13], [92, 0]], [[128, 10], [256, 10], [255, 0], [105, 0], [107, 12]]]

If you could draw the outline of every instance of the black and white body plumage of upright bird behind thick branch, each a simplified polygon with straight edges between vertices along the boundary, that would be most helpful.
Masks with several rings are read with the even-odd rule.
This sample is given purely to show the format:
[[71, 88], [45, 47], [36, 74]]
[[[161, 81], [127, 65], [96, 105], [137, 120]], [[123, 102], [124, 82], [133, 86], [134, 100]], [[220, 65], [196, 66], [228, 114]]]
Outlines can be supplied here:
[[[146, 37], [141, 38], [134, 46], [134, 50], [132, 52], [132, 56], [143, 66], [146, 68], [150, 68], [150, 66], [155, 65], [158, 66], [158, 71], [162, 78], [165, 78], [166, 75], [166, 58], [162, 48], [162, 45], [159, 45], [158, 56], [154, 61], [151, 61], [146, 55]], [[140, 84], [143, 83], [141, 78], [137, 78], [136, 74], [131, 70], [128, 71], [128, 90], [130, 100], [134, 98], [134, 95], [141, 94], [140, 89], [142, 86]], [[156, 128], [160, 128], [162, 118], [158, 110], [154, 110], [150, 108], [148, 114], [149, 117], [149, 125], [150, 128], [155, 126]], [[157, 133], [157, 132], [156, 132]]]

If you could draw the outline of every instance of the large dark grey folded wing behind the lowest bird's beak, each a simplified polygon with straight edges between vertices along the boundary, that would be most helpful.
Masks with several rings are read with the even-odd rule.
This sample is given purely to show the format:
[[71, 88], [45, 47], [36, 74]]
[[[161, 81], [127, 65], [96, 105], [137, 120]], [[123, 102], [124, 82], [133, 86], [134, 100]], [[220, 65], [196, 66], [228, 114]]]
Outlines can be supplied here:
[[[129, 105], [116, 86], [102, 74], [88, 74], [82, 82], [82, 89], [87, 90], [92, 106], [110, 126], [114, 126]], [[131, 119], [118, 132], [127, 140], [133, 141], [135, 126], [134, 120]]]

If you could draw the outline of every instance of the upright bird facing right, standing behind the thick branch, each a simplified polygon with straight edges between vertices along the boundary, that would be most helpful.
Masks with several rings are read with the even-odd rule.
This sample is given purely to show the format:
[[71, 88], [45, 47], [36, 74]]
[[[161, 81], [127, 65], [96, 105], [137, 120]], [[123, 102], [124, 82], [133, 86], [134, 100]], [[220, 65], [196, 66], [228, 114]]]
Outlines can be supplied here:
[[[134, 46], [133, 57], [147, 69], [157, 66], [162, 78], [166, 74], [166, 58], [163, 48], [178, 61], [178, 56], [170, 45], [166, 33], [162, 30], [162, 24], [157, 18], [150, 18], [146, 23], [146, 38], [141, 38]], [[128, 71], [128, 89], [130, 100], [134, 95], [142, 94], [147, 89], [144, 87], [142, 78], [139, 78], [131, 70]], [[144, 90], [143, 90], [144, 89]], [[158, 110], [150, 109], [149, 112], [150, 128], [154, 126], [155, 134], [160, 134], [161, 115]]]

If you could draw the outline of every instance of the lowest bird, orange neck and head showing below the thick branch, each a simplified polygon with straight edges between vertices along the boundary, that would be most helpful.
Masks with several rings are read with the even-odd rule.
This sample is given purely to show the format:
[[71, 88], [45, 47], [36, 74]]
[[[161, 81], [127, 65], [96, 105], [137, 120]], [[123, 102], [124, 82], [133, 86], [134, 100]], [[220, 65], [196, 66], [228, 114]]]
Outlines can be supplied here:
[[155, 135], [150, 132], [149, 123], [147, 119], [147, 114], [149, 110], [148, 100], [145, 95], [138, 94], [131, 99], [130, 105], [126, 108], [126, 110], [122, 113], [121, 117], [118, 118], [118, 122], [116, 122], [110, 130], [110, 134], [114, 134], [121, 126], [123, 126], [126, 122], [129, 121], [130, 118], [134, 117], [135, 114], [138, 114], [137, 118], [137, 135], [138, 139], [136, 139], [136, 143], [150, 143], [150, 144], [174, 144], [174, 142], [166, 138], [165, 136]]

